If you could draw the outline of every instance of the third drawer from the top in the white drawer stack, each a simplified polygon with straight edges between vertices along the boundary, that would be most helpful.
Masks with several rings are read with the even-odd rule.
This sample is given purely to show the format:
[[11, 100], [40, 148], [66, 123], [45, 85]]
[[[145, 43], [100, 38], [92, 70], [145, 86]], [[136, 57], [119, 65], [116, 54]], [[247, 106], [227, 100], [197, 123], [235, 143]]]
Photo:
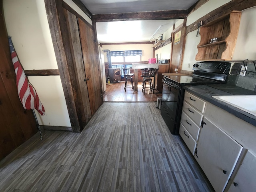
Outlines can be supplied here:
[[193, 138], [197, 141], [199, 135], [199, 126], [196, 125], [194, 121], [192, 121], [184, 112], [182, 112], [180, 123], [190, 132]]

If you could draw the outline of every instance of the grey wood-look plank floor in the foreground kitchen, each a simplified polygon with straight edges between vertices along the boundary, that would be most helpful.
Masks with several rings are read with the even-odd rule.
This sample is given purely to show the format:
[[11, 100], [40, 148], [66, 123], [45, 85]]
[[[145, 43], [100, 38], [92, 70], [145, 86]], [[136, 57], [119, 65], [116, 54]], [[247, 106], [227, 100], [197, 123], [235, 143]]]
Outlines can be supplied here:
[[81, 133], [34, 135], [0, 161], [0, 191], [213, 191], [155, 105], [104, 102]]

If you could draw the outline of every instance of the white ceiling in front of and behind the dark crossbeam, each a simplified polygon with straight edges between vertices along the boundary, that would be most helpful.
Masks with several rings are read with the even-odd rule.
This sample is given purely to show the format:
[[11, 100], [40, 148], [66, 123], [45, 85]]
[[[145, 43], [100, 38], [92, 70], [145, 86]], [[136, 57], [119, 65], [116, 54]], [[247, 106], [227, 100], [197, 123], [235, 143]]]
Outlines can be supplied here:
[[[161, 10], [187, 10], [198, 0], [81, 0], [92, 14], [111, 14]], [[158, 38], [175, 20], [142, 20], [98, 22], [97, 36], [100, 43], [149, 41], [154, 32]]]

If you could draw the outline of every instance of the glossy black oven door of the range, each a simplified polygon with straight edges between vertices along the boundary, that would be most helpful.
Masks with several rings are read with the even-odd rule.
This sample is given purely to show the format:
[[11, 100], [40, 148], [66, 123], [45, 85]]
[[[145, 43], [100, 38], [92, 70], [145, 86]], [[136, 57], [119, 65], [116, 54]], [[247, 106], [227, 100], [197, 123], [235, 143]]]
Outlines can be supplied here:
[[172, 134], [178, 134], [178, 106], [181, 86], [163, 84], [161, 115]]

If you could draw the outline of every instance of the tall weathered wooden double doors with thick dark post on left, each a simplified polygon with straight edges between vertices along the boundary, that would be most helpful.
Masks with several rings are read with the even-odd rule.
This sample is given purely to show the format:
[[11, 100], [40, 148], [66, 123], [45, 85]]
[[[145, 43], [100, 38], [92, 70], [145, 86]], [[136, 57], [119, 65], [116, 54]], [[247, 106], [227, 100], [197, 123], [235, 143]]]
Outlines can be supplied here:
[[70, 123], [81, 132], [103, 103], [96, 26], [64, 1], [44, 2]]

